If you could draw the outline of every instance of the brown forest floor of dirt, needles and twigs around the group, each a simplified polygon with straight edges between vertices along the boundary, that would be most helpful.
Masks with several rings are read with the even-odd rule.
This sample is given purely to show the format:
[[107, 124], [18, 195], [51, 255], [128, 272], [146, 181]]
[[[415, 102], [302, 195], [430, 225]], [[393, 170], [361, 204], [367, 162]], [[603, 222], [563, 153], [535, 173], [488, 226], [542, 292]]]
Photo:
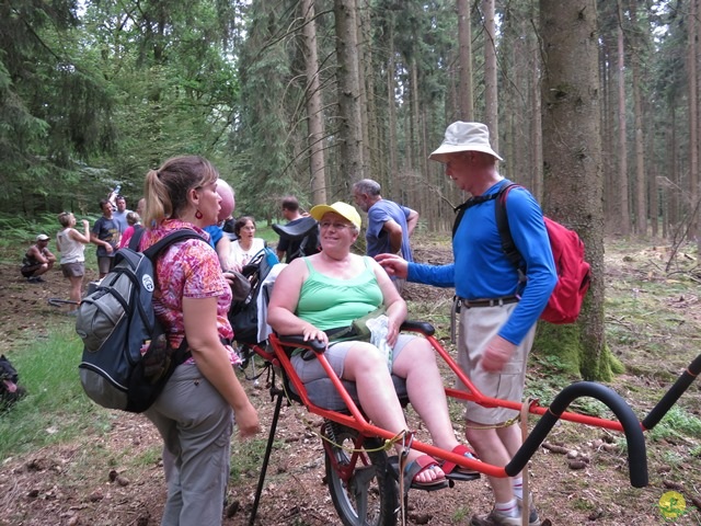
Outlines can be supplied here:
[[[447, 261], [450, 255], [448, 249], [432, 241], [415, 242], [415, 249], [420, 261]], [[664, 270], [668, 255], [665, 247], [607, 243], [607, 336], [625, 367], [608, 386], [640, 419], [700, 348], [701, 294], [694, 258], [679, 254], [691, 264], [675, 273]], [[71, 323], [46, 301], [65, 297], [66, 290], [59, 271], [46, 276], [45, 284], [25, 284], [16, 267], [0, 266], [2, 352], [19, 352], [27, 339], [41, 338], [47, 320]], [[406, 296], [444, 305], [449, 293], [410, 285]], [[535, 351], [528, 375], [531, 391], [540, 392], [539, 387], [551, 382], [551, 365]], [[249, 524], [274, 409], [264, 378], [260, 386], [245, 381], [264, 431], [254, 441], [232, 442], [232, 466], [237, 468], [229, 488], [229, 517], [223, 522], [228, 526]], [[701, 418], [700, 381], [692, 384], [678, 405], [687, 419]], [[533, 416], [530, 425], [537, 420]], [[102, 434], [81, 435], [70, 443], [0, 459], [0, 525], [160, 524], [165, 500], [160, 438], [143, 416], [115, 412], [113, 422]], [[320, 419], [302, 407], [284, 404], [255, 524], [340, 524], [324, 481], [324, 455], [315, 435], [320, 424]], [[459, 422], [456, 427], [462, 435]], [[670, 432], [655, 439], [646, 437], [650, 484], [634, 489], [621, 434], [558, 424], [547, 437], [545, 445], [551, 447], [539, 448], [530, 461], [530, 484], [541, 517], [555, 525], [701, 524], [701, 434]], [[149, 458], [149, 451], [151, 461], [133, 461]], [[674, 511], [685, 513], [666, 517], [660, 503], [677, 493], [686, 500], [686, 507], [678, 505]], [[407, 524], [467, 525], [473, 513], [486, 513], [490, 506], [484, 478], [433, 493], [412, 491]]]

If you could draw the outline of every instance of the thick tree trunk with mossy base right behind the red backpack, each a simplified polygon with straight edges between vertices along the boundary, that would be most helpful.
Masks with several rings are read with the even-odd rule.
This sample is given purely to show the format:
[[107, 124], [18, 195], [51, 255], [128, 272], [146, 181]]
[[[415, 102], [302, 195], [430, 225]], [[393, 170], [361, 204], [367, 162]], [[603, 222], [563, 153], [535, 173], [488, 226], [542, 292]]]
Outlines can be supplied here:
[[[575, 325], [541, 323], [539, 344], [576, 346], [585, 379], [610, 378], [604, 331], [604, 210], [595, 0], [540, 0], [543, 42], [544, 210], [575, 229], [591, 264], [591, 287]], [[573, 56], [577, 60], [573, 60]], [[566, 332], [565, 332], [566, 331]], [[549, 342], [549, 343], [548, 343]]]

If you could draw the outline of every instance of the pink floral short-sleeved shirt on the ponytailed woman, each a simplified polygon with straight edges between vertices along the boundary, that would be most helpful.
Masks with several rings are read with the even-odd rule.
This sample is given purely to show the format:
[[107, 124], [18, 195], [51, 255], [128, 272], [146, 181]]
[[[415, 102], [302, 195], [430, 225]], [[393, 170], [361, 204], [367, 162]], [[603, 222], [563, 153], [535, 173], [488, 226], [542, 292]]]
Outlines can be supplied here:
[[[141, 238], [140, 249], [145, 250], [174, 230], [189, 228], [203, 240], [186, 239], [169, 247], [157, 260], [157, 287], [153, 291], [153, 310], [170, 333], [170, 343], [177, 348], [185, 338], [183, 322], [183, 298], [217, 298], [217, 330], [219, 338], [233, 341], [233, 330], [229, 323], [231, 287], [225, 279], [219, 258], [209, 245], [209, 235], [200, 228], [180, 219], [165, 219], [153, 229], [148, 229]], [[226, 345], [231, 363], [241, 358]], [[189, 358], [187, 364], [193, 364]]]

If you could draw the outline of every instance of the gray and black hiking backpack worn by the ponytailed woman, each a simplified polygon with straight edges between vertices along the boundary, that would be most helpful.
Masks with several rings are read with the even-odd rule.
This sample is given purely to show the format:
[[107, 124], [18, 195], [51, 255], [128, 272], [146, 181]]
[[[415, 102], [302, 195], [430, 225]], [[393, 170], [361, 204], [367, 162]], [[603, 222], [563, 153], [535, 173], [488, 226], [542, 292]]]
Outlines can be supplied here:
[[194, 230], [176, 230], [139, 252], [142, 233], [117, 251], [114, 268], [82, 299], [76, 320], [85, 393], [99, 405], [134, 413], [146, 411], [189, 357], [185, 340], [176, 350], [170, 346], [153, 312], [156, 259], [177, 241], [203, 239]]

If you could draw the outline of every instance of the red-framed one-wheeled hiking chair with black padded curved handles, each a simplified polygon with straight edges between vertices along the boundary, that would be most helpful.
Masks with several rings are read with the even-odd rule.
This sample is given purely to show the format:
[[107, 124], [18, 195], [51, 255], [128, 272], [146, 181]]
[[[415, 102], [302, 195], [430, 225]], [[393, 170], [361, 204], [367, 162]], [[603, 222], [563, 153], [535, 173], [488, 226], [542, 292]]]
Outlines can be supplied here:
[[[418, 333], [426, 338], [445, 364], [467, 387], [464, 391], [446, 388], [446, 395], [449, 398], [541, 415], [518, 453], [505, 467], [462, 457], [421, 442], [413, 436], [402, 437], [406, 447], [493, 477], [512, 477], [524, 470], [548, 433], [562, 419], [624, 433], [631, 485], [634, 488], [647, 485], [647, 457], [643, 432], [652, 430], [662, 420], [701, 371], [701, 355], [699, 355], [641, 422], [616, 391], [591, 381], [570, 385], [554, 398], [549, 407], [539, 405], [537, 401], [525, 404], [485, 397], [472, 385], [434, 336], [434, 328], [429, 323], [405, 322], [402, 331]], [[255, 353], [265, 361], [271, 397], [275, 400], [267, 447], [249, 524], [253, 526], [255, 523], [283, 401], [294, 400], [323, 419], [319, 435], [324, 448], [326, 481], [333, 505], [342, 523], [346, 526], [393, 526], [402, 510], [400, 499], [406, 499], [406, 493], [402, 495], [399, 491], [401, 477], [398, 477], [397, 456], [390, 457], [387, 454], [387, 449], [392, 449], [389, 445], [397, 442], [398, 436], [368, 422], [357, 404], [355, 385], [335, 376], [323, 354], [324, 348], [318, 343], [317, 341], [303, 342], [301, 336], [269, 334], [265, 342], [242, 345], [244, 354], [248, 352], [249, 357]], [[326, 370], [329, 378], [302, 384], [289, 358], [291, 350], [298, 347], [314, 351], [317, 359]], [[406, 395], [403, 380], [398, 377], [392, 379], [398, 396], [402, 400]], [[574, 400], [582, 397], [599, 400], [611, 410], [617, 420], [566, 411]]]

